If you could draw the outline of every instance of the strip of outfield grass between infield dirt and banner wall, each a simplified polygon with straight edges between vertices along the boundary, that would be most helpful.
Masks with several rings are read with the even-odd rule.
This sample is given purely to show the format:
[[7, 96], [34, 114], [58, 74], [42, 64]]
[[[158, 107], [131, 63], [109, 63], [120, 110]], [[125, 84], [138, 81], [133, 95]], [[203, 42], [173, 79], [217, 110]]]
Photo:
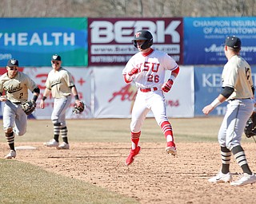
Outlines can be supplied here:
[[[217, 141], [222, 118], [170, 118], [177, 142]], [[130, 119], [67, 120], [68, 135], [74, 142], [130, 143]], [[29, 120], [26, 135], [20, 142], [46, 142], [53, 137], [50, 120]], [[0, 137], [0, 142], [5, 142]], [[142, 125], [142, 142], [164, 142], [162, 130], [154, 118], [146, 118]]]

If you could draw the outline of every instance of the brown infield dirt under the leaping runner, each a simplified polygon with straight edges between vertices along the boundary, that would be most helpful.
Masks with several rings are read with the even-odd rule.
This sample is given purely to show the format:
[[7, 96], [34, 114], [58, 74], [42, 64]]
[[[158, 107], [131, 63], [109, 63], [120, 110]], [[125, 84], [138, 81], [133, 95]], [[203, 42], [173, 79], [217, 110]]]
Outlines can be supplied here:
[[[17, 150], [17, 160], [32, 163], [60, 175], [82, 179], [108, 190], [156, 203], [255, 203], [256, 184], [242, 187], [207, 181], [220, 168], [217, 143], [178, 143], [178, 157], [166, 155], [165, 143], [142, 143], [142, 151], [130, 167], [124, 165], [127, 143], [71, 143], [70, 150], [22, 143], [37, 150]], [[245, 143], [247, 160], [256, 171], [255, 143]], [[0, 154], [8, 152], [0, 143]], [[238, 179], [240, 167], [232, 157], [231, 173]]]

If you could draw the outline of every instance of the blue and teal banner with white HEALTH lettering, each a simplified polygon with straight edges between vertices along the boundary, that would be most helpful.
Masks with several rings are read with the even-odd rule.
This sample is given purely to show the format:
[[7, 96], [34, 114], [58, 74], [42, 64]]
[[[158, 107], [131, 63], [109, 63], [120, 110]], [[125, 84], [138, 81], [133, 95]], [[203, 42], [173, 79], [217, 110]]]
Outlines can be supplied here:
[[0, 66], [49, 66], [54, 53], [65, 66], [88, 65], [87, 18], [0, 18]]

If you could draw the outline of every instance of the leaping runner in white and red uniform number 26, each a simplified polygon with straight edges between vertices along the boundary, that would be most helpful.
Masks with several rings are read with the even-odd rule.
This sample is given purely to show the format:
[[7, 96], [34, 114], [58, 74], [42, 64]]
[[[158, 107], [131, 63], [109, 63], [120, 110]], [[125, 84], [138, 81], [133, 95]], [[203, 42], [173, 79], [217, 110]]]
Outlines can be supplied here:
[[[153, 36], [149, 30], [138, 30], [133, 41], [139, 52], [130, 58], [122, 71], [126, 83], [134, 80], [138, 88], [130, 123], [132, 145], [126, 159], [127, 166], [133, 163], [134, 156], [138, 155], [141, 149], [139, 146], [141, 128], [150, 110], [166, 137], [166, 152], [171, 155], [176, 155], [177, 152], [172, 127], [166, 116], [166, 100], [163, 92], [170, 91], [178, 76], [179, 67], [168, 54], [151, 48]], [[166, 71], [170, 72], [170, 79], [165, 83]]]

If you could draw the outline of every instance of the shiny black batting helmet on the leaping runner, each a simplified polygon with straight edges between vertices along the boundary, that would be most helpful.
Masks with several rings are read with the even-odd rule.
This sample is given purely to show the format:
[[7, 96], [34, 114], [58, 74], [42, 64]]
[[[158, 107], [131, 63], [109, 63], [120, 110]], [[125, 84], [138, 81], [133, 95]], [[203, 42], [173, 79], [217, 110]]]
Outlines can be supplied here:
[[138, 30], [135, 34], [134, 34], [134, 46], [135, 48], [137, 48], [137, 41], [138, 40], [145, 40], [145, 42], [141, 45], [142, 49], [147, 49], [150, 46], [153, 45], [153, 36], [150, 33], [150, 31], [146, 30], [146, 29], [141, 29]]

